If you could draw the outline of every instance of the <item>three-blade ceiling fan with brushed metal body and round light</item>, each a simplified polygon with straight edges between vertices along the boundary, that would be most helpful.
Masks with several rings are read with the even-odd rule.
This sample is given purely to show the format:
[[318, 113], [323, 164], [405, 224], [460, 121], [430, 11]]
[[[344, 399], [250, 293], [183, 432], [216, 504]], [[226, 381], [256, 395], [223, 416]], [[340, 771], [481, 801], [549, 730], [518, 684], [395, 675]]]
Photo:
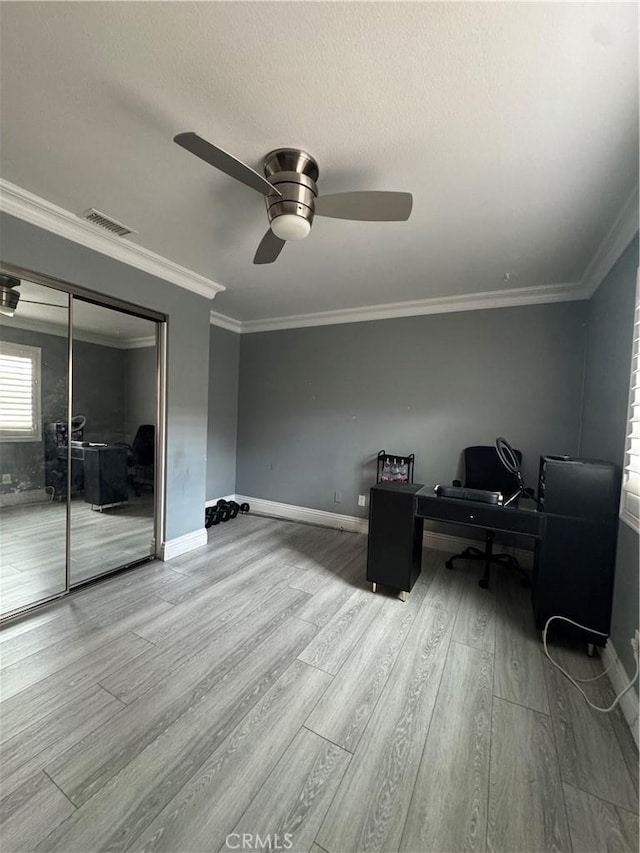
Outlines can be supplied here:
[[306, 237], [314, 214], [368, 222], [401, 222], [411, 214], [411, 193], [371, 190], [318, 196], [318, 164], [299, 148], [277, 148], [267, 154], [262, 177], [196, 133], [179, 133], [173, 141], [265, 196], [270, 227], [260, 241], [254, 264], [272, 264], [287, 240]]

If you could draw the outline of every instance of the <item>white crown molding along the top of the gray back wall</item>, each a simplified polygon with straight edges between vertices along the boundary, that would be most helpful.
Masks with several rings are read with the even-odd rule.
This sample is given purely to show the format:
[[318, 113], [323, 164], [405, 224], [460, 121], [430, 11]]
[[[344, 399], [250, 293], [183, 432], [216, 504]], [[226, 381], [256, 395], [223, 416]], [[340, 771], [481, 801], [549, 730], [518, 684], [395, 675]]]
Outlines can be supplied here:
[[[298, 314], [291, 317], [271, 317], [266, 320], [234, 320], [211, 312], [211, 322], [239, 334], [273, 332], [281, 329], [301, 329], [308, 326], [333, 326], [340, 323], [362, 323], [369, 320], [390, 320], [396, 317], [418, 317], [425, 314], [450, 314], [456, 311], [479, 311], [488, 308], [511, 308], [518, 305], [542, 305], [548, 302], [574, 302], [586, 299], [582, 285], [577, 282], [544, 284], [509, 290], [491, 290], [461, 296], [436, 296], [412, 302], [387, 302], [361, 308], [322, 311], [317, 314]], [[223, 320], [224, 322], [221, 322]]]

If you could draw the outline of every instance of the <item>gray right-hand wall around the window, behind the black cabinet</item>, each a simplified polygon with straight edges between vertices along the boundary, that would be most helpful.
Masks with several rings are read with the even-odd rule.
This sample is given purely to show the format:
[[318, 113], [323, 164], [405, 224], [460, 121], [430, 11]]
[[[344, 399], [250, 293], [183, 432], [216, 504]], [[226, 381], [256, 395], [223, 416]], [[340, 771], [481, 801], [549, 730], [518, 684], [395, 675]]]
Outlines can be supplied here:
[[[627, 428], [633, 312], [638, 267], [636, 237], [589, 302], [587, 358], [582, 416], [582, 456], [622, 467]], [[638, 615], [638, 534], [624, 522], [618, 532], [611, 639], [628, 673], [633, 673], [629, 640]], [[636, 684], [636, 692], [638, 685]]]

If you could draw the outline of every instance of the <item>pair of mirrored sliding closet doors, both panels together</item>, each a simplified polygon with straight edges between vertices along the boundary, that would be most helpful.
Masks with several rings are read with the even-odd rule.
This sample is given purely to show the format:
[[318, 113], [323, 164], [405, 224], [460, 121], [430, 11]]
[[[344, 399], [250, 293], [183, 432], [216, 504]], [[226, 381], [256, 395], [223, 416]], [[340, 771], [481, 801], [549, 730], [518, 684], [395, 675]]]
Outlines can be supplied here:
[[0, 281], [0, 618], [150, 559], [161, 523], [164, 323], [37, 278]]

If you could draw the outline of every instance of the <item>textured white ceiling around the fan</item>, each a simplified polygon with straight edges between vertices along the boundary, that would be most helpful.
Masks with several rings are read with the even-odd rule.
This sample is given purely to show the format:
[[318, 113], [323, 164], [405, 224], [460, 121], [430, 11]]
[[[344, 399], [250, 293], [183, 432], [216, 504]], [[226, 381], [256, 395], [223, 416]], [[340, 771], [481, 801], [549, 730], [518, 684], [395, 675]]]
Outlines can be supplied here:
[[[2, 176], [136, 229], [241, 320], [578, 281], [638, 180], [637, 14], [3, 3]], [[262, 197], [175, 145], [185, 130], [257, 169], [300, 146], [321, 193], [411, 191], [411, 219], [317, 218], [256, 267]]]

